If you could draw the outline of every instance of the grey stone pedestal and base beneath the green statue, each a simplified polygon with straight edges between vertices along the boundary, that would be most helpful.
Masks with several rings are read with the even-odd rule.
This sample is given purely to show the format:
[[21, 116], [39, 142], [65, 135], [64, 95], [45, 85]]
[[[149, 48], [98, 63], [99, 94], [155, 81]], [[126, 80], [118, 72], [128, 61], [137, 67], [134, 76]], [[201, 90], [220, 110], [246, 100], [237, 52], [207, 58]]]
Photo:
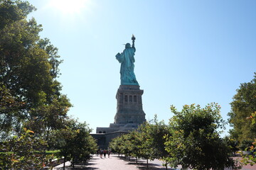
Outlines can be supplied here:
[[100, 149], [107, 149], [114, 137], [136, 130], [146, 121], [142, 108], [143, 90], [138, 85], [120, 85], [117, 90], [117, 113], [114, 123], [108, 128], [97, 128], [96, 134], [91, 134], [97, 140]]

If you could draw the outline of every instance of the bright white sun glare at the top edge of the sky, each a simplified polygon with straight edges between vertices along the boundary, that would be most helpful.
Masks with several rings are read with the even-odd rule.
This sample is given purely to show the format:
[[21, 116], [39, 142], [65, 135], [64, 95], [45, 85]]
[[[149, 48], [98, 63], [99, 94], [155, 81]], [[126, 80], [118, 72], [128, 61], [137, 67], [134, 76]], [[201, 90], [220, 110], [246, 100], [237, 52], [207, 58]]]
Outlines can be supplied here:
[[85, 9], [88, 0], [50, 0], [50, 6], [63, 14], [73, 15]]

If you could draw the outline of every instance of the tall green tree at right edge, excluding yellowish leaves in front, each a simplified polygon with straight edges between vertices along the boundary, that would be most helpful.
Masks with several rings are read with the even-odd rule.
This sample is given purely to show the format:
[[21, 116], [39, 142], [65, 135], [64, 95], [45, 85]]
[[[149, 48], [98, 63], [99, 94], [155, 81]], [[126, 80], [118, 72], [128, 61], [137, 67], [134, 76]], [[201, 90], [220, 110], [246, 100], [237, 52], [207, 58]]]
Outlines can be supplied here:
[[231, 112], [229, 123], [233, 126], [230, 135], [239, 142], [242, 140], [254, 140], [256, 138], [256, 124], [252, 124], [247, 118], [256, 111], [256, 73], [254, 79], [248, 83], [240, 84], [237, 94], [230, 103]]

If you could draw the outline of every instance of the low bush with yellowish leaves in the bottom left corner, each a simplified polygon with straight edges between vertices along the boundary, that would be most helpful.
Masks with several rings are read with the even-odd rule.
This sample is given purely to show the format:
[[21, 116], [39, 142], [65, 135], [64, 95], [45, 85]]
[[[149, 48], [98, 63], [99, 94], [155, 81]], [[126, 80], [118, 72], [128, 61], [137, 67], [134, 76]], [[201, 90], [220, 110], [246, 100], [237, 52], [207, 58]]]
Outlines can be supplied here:
[[53, 155], [46, 154], [46, 141], [36, 137], [33, 131], [24, 129], [20, 137], [2, 142], [0, 168], [43, 169]]

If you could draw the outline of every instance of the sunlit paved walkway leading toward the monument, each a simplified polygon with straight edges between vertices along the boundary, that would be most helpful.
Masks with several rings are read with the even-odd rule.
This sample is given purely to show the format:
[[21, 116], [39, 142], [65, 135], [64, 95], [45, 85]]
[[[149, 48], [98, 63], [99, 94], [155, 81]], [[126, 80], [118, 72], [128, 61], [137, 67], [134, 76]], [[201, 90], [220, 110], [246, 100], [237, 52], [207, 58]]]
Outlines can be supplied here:
[[[148, 170], [166, 170], [166, 167], [161, 165], [162, 162], [159, 160], [149, 161]], [[72, 169], [70, 162], [66, 162], [65, 169]], [[181, 167], [178, 167], [180, 169]], [[63, 169], [63, 164], [60, 164], [54, 168], [54, 170]], [[116, 154], [111, 154], [110, 158], [92, 157], [87, 164], [75, 165], [75, 169], [80, 170], [146, 170], [146, 160], [139, 159], [138, 164], [135, 159], [125, 159], [124, 157], [118, 157]], [[171, 167], [168, 167], [171, 170]], [[172, 169], [174, 170], [174, 169]], [[228, 170], [228, 169], [225, 169]], [[242, 170], [256, 170], [254, 166], [244, 166]]]

